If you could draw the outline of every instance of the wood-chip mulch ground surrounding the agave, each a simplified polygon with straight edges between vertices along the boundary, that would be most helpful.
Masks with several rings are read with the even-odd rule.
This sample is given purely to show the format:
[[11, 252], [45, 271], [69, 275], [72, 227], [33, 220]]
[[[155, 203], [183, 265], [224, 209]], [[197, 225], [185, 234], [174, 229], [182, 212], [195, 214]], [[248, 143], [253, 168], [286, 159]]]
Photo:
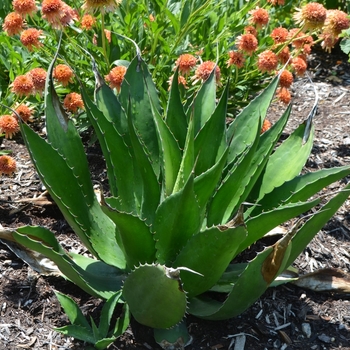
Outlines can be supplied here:
[[[319, 107], [315, 117], [314, 147], [304, 171], [350, 164], [350, 64], [340, 53], [313, 54], [309, 74], [317, 87]], [[287, 136], [305, 120], [314, 103], [314, 90], [306, 78], [293, 84], [293, 110]], [[278, 118], [281, 106], [271, 107], [269, 118]], [[70, 227], [50, 202], [33, 201], [44, 188], [31, 165], [20, 137], [4, 140], [18, 163], [13, 177], [0, 178], [0, 219], [3, 227], [43, 225], [66, 248], [78, 247]], [[104, 176], [96, 147], [88, 150], [93, 173]], [[350, 178], [324, 190], [329, 194]], [[28, 199], [30, 199], [28, 201]], [[48, 198], [49, 201], [49, 198]], [[301, 273], [320, 268], [350, 268], [350, 201], [319, 232], [295, 262]], [[98, 319], [102, 302], [59, 277], [41, 276], [0, 243], [0, 350], [88, 349], [89, 346], [54, 331], [68, 324], [53, 290], [70, 295], [84, 314]], [[189, 316], [193, 342], [187, 349], [350, 349], [350, 295], [314, 292], [292, 284], [270, 288], [239, 317], [209, 322]], [[160, 349], [152, 332], [132, 321], [110, 349]]]

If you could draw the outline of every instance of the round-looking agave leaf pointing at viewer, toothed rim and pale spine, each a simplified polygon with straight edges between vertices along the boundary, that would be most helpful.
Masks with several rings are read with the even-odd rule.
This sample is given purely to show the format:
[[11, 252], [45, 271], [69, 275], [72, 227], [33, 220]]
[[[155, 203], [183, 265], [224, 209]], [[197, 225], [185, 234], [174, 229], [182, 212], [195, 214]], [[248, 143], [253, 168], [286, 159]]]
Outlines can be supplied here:
[[186, 294], [179, 271], [161, 265], [144, 265], [125, 280], [123, 297], [135, 319], [152, 328], [169, 328], [186, 312]]

